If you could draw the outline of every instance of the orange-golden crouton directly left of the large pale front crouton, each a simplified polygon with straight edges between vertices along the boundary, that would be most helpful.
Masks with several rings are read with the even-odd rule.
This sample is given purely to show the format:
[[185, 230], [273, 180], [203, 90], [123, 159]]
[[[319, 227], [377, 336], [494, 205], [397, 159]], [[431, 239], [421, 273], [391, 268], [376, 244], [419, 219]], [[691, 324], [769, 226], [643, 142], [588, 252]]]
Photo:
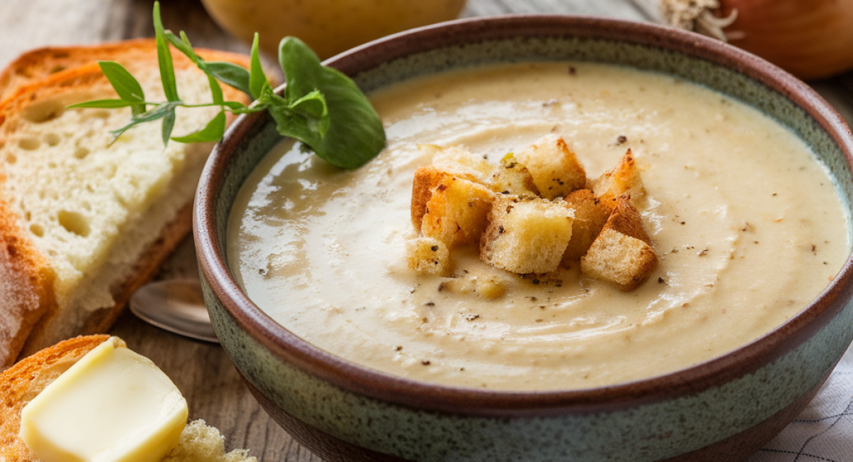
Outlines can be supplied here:
[[421, 235], [448, 247], [478, 242], [494, 198], [495, 193], [479, 183], [444, 176], [427, 201]]

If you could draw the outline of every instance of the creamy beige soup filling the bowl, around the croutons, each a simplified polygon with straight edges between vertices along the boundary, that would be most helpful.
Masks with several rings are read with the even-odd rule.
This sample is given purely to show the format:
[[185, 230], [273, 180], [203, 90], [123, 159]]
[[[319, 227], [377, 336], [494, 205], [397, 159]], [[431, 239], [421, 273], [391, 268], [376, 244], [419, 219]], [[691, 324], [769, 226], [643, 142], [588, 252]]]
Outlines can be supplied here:
[[[707, 361], [814, 299], [849, 253], [833, 181], [796, 136], [678, 78], [593, 63], [486, 66], [371, 95], [388, 143], [356, 171], [281, 144], [242, 188], [229, 264], [252, 301], [322, 349], [421, 381], [582, 389]], [[630, 149], [659, 268], [623, 292], [570, 269], [537, 277], [455, 249], [457, 287], [406, 264], [421, 144], [498, 162], [548, 133], [595, 178]]]

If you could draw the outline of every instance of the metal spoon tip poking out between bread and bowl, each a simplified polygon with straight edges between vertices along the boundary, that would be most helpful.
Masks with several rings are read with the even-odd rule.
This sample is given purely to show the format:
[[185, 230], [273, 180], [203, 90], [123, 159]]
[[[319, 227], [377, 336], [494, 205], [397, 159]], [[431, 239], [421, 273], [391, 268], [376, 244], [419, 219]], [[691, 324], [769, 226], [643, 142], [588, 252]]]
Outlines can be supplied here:
[[146, 284], [134, 292], [130, 305], [133, 314], [149, 324], [189, 338], [219, 343], [197, 279]]

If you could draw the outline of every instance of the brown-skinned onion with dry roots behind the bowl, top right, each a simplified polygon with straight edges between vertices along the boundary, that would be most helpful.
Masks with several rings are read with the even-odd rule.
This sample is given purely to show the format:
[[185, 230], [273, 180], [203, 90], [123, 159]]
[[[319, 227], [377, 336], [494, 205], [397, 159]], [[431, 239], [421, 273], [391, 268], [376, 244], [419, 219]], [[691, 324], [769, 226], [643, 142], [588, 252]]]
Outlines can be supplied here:
[[798, 78], [853, 68], [853, 0], [660, 0], [670, 26], [728, 41]]

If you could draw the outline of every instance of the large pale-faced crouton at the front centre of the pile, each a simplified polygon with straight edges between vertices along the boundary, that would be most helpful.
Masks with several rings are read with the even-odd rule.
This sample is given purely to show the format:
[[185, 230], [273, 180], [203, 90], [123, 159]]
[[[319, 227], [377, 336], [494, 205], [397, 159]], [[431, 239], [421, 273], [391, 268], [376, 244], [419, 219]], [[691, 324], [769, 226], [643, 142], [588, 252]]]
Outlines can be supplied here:
[[572, 210], [562, 200], [498, 196], [480, 259], [513, 273], [548, 273], [560, 265], [571, 238]]

